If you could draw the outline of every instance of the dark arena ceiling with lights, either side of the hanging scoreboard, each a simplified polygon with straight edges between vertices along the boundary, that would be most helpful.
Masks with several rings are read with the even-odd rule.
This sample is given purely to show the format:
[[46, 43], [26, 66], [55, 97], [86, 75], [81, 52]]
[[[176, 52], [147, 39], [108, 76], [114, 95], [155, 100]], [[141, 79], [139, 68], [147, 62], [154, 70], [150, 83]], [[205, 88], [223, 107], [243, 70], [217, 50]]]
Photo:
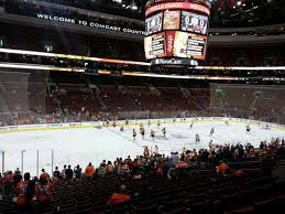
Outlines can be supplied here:
[[[149, 0], [43, 0], [144, 20]], [[285, 23], [284, 0], [209, 0], [211, 28]]]

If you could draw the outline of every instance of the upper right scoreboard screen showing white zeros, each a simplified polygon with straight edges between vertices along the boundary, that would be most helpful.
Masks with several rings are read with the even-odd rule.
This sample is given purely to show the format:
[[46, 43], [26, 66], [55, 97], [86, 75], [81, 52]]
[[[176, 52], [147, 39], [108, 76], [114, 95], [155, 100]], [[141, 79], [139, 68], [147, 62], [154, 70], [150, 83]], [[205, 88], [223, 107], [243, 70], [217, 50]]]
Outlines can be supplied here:
[[207, 34], [209, 18], [194, 12], [182, 11], [182, 30]]

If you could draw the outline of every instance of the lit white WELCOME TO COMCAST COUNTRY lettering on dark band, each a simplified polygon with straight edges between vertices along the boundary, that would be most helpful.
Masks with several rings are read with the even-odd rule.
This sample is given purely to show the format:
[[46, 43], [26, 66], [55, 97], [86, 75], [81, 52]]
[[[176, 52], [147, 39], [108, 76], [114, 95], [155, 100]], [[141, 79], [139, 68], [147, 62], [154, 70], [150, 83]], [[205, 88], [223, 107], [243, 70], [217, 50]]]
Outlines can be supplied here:
[[103, 30], [109, 30], [109, 31], [118, 31], [118, 32], [123, 32], [123, 33], [145, 35], [144, 31], [129, 29], [129, 28], [121, 28], [121, 26], [117, 26], [117, 25], [102, 24], [102, 23], [97, 23], [97, 22], [91, 22], [91, 21], [86, 21], [86, 20], [78, 20], [78, 19], [65, 18], [65, 17], [59, 17], [59, 15], [58, 17], [50, 15], [50, 14], [44, 14], [44, 13], [36, 13], [36, 17], [39, 19], [44, 19], [44, 20], [50, 20], [50, 21], [55, 21], [55, 22], [64, 22], [64, 23], [69, 23], [69, 24], [90, 26], [90, 28], [95, 28], [95, 29], [103, 29]]

